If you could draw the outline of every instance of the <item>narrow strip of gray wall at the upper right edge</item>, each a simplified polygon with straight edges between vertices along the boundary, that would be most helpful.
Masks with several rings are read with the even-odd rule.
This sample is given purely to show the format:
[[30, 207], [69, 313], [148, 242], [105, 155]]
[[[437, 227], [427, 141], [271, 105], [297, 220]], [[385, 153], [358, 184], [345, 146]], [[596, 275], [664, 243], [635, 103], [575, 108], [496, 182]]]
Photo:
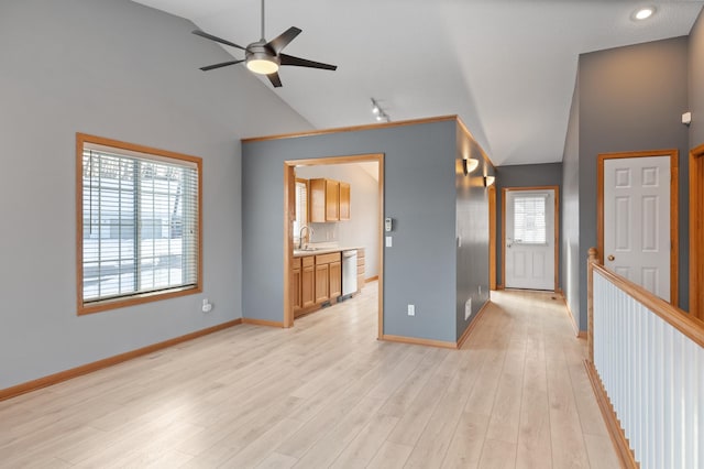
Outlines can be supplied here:
[[704, 10], [690, 33], [690, 148], [704, 144]]

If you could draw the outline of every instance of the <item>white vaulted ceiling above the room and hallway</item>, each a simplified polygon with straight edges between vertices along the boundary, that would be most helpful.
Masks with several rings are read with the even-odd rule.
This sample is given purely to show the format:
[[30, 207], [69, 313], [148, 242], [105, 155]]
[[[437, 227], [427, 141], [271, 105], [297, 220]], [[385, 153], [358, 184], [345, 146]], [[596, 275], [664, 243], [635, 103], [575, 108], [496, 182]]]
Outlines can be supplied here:
[[[261, 35], [258, 0], [138, 2], [243, 46]], [[657, 13], [632, 21], [644, 4], [656, 6]], [[266, 39], [298, 26], [302, 33], [284, 52], [336, 64], [338, 70], [283, 67], [284, 86], [276, 89], [264, 79], [319, 129], [375, 122], [374, 97], [392, 120], [459, 114], [496, 165], [558, 162], [579, 54], [685, 35], [702, 6], [694, 0], [268, 0]], [[242, 51], [226, 48], [243, 58]]]

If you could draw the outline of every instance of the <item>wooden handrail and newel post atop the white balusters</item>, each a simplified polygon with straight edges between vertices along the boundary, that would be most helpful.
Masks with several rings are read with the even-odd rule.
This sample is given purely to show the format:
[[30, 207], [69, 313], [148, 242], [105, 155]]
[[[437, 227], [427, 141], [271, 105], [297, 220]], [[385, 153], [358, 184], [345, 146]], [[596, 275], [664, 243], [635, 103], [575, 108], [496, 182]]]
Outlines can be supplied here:
[[[592, 253], [592, 250], [596, 251], [594, 248], [592, 248], [592, 249], [590, 249], [590, 254]], [[652, 313], [658, 315], [661, 319], [663, 319], [670, 326], [674, 327], [680, 332], [682, 332], [683, 335], [685, 335], [686, 337], [692, 339], [700, 347], [704, 347], [704, 323], [700, 321], [698, 319], [694, 319], [694, 318], [690, 317], [690, 315], [686, 312], [680, 309], [679, 307], [676, 307], [674, 305], [671, 305], [670, 303], [666, 302], [664, 299], [660, 298], [659, 296], [656, 296], [654, 294], [652, 294], [651, 292], [647, 291], [642, 286], [636, 285], [635, 283], [629, 281], [628, 279], [625, 279], [625, 277], [623, 277], [623, 276], [620, 276], [620, 275], [618, 275], [618, 274], [616, 274], [616, 273], [614, 273], [612, 271], [606, 270], [606, 268], [604, 268], [603, 265], [598, 264], [595, 261], [593, 262], [591, 255], [590, 255], [588, 268], [591, 270], [588, 279], [587, 279], [587, 282], [588, 282], [588, 285], [587, 285], [587, 294], [588, 294], [587, 314], [590, 315], [588, 316], [588, 320], [590, 320], [590, 340], [591, 340], [592, 329], [593, 329], [593, 327], [592, 327], [593, 326], [593, 324], [592, 324], [593, 309], [592, 309], [591, 305], [592, 305], [592, 302], [593, 302], [594, 292], [588, 286], [592, 284], [593, 272], [596, 271], [602, 276], [604, 276], [606, 280], [608, 280], [614, 285], [616, 285], [618, 288], [623, 290], [626, 294], [630, 295], [637, 302], [641, 303], [644, 306], [646, 306]], [[592, 343], [593, 342], [590, 341], [590, 346], [592, 347], [590, 349], [590, 359], [592, 360], [592, 362], [594, 362], [594, 355], [593, 355], [594, 352], [593, 352], [593, 345]]]

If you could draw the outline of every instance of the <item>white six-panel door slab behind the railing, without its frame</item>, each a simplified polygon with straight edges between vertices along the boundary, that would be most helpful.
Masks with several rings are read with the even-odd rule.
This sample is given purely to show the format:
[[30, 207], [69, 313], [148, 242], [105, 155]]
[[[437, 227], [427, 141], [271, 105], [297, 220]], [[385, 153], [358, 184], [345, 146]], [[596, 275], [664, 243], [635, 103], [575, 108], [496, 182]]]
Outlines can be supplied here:
[[604, 160], [604, 265], [670, 301], [670, 157]]

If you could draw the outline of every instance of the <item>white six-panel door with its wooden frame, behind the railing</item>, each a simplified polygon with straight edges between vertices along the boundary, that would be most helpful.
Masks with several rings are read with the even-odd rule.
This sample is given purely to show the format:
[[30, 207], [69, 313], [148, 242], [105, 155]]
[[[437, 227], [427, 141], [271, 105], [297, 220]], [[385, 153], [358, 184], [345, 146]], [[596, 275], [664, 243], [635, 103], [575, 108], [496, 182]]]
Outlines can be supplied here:
[[678, 304], [678, 150], [603, 153], [597, 164], [598, 262]]

